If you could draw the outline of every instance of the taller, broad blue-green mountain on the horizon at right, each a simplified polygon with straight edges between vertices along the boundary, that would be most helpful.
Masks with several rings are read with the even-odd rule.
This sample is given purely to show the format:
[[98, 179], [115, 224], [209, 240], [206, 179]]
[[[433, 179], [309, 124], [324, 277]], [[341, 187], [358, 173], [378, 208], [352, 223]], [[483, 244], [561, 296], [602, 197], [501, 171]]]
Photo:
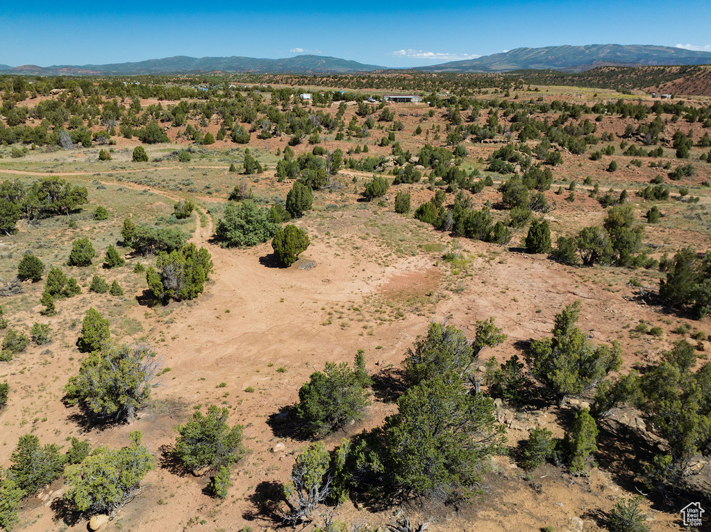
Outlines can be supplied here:
[[564, 70], [584, 72], [602, 66], [711, 64], [710, 52], [653, 45], [591, 44], [516, 48], [481, 58], [420, 67], [425, 72], [508, 72], [510, 70]]

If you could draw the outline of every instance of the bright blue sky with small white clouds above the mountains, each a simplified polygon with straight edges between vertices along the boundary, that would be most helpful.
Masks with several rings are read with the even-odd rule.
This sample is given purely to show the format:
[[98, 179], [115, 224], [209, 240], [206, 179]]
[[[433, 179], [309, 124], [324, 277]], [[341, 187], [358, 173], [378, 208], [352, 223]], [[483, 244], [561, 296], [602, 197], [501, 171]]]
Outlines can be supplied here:
[[314, 53], [407, 67], [563, 44], [711, 51], [711, 1], [5, 0], [0, 28], [11, 66]]

